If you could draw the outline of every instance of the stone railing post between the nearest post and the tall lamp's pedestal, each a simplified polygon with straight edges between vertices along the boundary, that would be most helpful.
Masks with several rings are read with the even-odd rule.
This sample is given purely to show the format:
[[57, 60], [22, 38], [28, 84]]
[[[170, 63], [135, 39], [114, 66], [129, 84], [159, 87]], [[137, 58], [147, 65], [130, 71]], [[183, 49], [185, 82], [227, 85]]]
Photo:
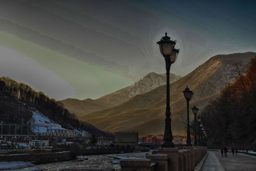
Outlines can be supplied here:
[[157, 171], [168, 171], [167, 154], [149, 154], [146, 158], [151, 160], [151, 163], [158, 163]]

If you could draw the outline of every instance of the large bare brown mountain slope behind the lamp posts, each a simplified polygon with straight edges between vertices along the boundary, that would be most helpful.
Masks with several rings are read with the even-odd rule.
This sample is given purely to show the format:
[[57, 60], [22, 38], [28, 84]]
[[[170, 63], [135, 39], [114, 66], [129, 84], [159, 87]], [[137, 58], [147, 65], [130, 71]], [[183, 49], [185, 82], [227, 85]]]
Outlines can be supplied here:
[[[190, 101], [199, 108], [205, 107], [219, 96], [221, 89], [234, 78], [230, 73], [234, 64], [248, 63], [256, 56], [254, 52], [214, 56], [194, 71], [170, 85], [173, 134], [184, 133], [186, 100], [182, 91], [188, 85], [194, 92]], [[87, 121], [105, 131], [135, 130], [139, 136], [163, 133], [166, 85], [139, 94], [115, 107], [84, 115]], [[193, 114], [190, 112], [192, 119]]]

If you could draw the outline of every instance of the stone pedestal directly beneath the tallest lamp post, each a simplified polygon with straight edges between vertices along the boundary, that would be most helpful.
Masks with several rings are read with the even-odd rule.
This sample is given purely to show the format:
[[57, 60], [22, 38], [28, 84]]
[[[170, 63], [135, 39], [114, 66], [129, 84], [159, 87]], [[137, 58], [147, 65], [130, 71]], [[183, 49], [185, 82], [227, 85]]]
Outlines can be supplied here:
[[168, 170], [179, 171], [178, 148], [159, 148], [158, 154], [168, 155]]

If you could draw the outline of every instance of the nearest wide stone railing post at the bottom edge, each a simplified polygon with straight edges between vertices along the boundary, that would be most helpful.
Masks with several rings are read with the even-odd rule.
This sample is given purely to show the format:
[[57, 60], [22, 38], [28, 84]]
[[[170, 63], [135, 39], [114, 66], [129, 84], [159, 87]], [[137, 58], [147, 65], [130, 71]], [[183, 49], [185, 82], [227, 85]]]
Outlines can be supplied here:
[[121, 171], [151, 171], [151, 161], [142, 158], [125, 158], [120, 160]]

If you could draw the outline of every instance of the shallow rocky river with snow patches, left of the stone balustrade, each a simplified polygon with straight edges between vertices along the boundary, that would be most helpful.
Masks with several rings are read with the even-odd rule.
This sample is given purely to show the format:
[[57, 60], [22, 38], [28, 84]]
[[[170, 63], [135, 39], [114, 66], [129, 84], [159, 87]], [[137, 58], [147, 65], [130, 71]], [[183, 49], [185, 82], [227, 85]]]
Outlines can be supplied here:
[[115, 168], [115, 170], [120, 170], [120, 165], [116, 161], [122, 158], [131, 158], [131, 157], [145, 158], [147, 153], [149, 154], [149, 152], [133, 152], [133, 153], [126, 153], [126, 154], [84, 156], [84, 158], [88, 158], [88, 160], [81, 161], [81, 157], [79, 157], [79, 159], [77, 160], [35, 165], [33, 167], [24, 168], [24, 170], [34, 169], [34, 168], [42, 168], [44, 170], [61, 170], [62, 168], [72, 168], [72, 167], [76, 167], [76, 168], [77, 167], [81, 167], [81, 168], [111, 167], [111, 168]]

